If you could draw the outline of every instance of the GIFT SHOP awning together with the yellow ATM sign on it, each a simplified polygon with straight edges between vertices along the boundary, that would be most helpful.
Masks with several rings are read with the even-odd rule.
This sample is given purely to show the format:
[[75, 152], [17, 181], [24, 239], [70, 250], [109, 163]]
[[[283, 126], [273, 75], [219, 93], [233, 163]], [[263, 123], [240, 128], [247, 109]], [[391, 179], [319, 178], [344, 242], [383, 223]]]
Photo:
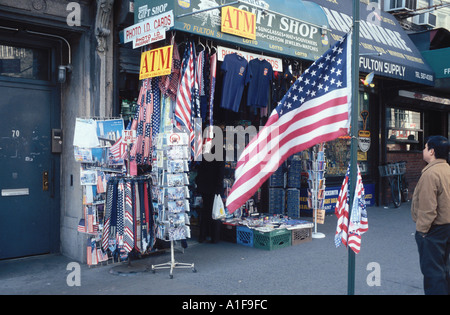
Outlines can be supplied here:
[[[231, 4], [231, 7], [227, 4]], [[327, 25], [322, 22], [326, 21], [323, 11], [316, 4], [309, 3], [310, 6], [316, 6], [320, 14], [296, 10], [288, 16], [276, 13], [277, 4], [280, 1], [136, 0], [135, 23], [173, 11], [175, 21], [172, 30], [277, 55], [312, 61], [319, 58], [330, 46], [325, 35]], [[228, 9], [223, 9], [225, 7]], [[317, 23], [303, 21], [302, 14], [308, 15], [310, 19], [317, 17]], [[320, 18], [318, 15], [321, 15]]]

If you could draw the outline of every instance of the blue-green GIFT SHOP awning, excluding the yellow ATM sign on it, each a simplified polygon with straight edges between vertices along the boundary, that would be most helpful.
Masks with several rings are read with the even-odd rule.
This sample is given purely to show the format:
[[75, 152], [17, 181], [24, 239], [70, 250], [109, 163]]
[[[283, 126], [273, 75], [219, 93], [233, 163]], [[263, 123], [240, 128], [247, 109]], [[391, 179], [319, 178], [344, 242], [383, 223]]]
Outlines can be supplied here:
[[[221, 31], [221, 10], [231, 5], [256, 15], [256, 38]], [[173, 12], [170, 28], [239, 47], [316, 60], [330, 46], [323, 41], [327, 17], [315, 3], [301, 0], [136, 0], [135, 23]], [[242, 21], [242, 20], [241, 20]]]

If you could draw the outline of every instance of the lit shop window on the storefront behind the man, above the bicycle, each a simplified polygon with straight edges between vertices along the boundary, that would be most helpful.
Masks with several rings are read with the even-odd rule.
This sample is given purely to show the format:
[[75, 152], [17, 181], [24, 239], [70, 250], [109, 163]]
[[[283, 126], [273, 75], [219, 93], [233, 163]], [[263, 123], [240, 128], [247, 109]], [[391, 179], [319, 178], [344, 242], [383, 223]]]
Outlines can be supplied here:
[[422, 114], [406, 109], [386, 108], [386, 138], [388, 151], [421, 150]]

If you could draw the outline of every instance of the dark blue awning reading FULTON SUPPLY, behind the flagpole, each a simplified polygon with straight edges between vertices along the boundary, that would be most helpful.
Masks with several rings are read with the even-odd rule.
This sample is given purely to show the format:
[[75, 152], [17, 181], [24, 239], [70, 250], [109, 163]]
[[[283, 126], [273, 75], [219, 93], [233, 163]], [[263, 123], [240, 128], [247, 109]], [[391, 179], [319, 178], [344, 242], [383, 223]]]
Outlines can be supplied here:
[[[348, 32], [352, 24], [352, 0], [314, 0], [328, 18], [330, 41]], [[376, 4], [375, 4], [376, 5]], [[360, 5], [361, 72], [424, 85], [434, 85], [434, 72], [424, 61], [417, 47], [389, 13], [374, 5]], [[381, 55], [378, 55], [381, 54]]]

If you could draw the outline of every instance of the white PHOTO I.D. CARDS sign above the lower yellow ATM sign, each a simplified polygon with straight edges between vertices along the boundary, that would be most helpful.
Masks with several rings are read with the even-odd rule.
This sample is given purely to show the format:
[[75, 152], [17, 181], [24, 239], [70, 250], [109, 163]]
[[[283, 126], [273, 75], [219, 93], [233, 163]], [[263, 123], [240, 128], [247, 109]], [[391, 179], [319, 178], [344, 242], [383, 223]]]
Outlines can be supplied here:
[[123, 30], [123, 43], [133, 42], [133, 48], [166, 39], [166, 30], [174, 26], [173, 11], [153, 16]]

